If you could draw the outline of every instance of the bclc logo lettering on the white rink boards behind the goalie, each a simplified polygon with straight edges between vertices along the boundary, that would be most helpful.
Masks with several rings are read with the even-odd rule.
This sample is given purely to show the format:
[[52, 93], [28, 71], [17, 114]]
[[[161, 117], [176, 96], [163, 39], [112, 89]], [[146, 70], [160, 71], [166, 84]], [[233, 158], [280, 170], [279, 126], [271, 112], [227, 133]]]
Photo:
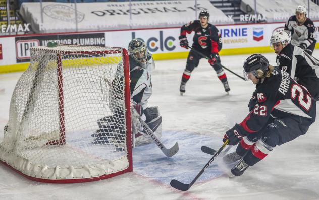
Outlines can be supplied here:
[[[136, 38], [135, 32], [132, 32], [132, 39], [135, 39], [135, 38]], [[142, 38], [137, 38], [137, 39], [143, 40]], [[174, 46], [174, 41], [175, 41], [175, 38], [172, 36], [163, 38], [163, 31], [159, 31], [159, 38], [150, 37], [147, 41], [144, 41], [144, 42], [146, 43], [146, 46], [149, 51], [155, 52], [158, 49], [163, 51], [164, 48], [168, 51], [173, 51], [176, 48], [176, 46]]]

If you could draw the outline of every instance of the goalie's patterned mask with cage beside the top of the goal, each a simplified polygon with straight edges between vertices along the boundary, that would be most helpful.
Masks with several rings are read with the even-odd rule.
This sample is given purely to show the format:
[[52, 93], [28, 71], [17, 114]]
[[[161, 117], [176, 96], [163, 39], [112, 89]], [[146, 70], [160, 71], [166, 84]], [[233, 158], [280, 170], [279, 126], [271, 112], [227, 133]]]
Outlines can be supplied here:
[[128, 51], [137, 62], [147, 62], [147, 47], [140, 39], [133, 39], [129, 43]]

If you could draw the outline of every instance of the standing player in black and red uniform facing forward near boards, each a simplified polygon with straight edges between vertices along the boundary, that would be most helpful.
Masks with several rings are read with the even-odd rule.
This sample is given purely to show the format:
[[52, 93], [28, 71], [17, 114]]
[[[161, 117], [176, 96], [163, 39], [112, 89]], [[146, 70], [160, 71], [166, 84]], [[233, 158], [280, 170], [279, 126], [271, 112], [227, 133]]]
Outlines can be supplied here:
[[[192, 48], [210, 58], [208, 60], [209, 64], [214, 68], [218, 78], [222, 81], [225, 91], [228, 92], [230, 91], [230, 88], [218, 54], [218, 52], [222, 49], [222, 37], [219, 30], [214, 25], [209, 24], [208, 20], [208, 11], [201, 11], [199, 13], [199, 20], [194, 20], [183, 25], [181, 28], [181, 35], [179, 36], [180, 46], [188, 49], [186, 34], [190, 34], [194, 31], [195, 35], [193, 37]], [[194, 50], [190, 50], [187, 57], [186, 68], [183, 72], [180, 85], [181, 95], [185, 92], [185, 86], [192, 71], [198, 66], [199, 60], [203, 58]]]

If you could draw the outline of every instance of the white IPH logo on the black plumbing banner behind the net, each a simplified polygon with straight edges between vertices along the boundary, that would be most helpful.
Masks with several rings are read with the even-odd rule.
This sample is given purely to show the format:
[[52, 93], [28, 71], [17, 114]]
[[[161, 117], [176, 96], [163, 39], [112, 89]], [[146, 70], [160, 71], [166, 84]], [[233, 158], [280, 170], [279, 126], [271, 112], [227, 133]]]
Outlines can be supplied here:
[[19, 40], [16, 42], [17, 59], [30, 59], [30, 48], [40, 46], [39, 40]]

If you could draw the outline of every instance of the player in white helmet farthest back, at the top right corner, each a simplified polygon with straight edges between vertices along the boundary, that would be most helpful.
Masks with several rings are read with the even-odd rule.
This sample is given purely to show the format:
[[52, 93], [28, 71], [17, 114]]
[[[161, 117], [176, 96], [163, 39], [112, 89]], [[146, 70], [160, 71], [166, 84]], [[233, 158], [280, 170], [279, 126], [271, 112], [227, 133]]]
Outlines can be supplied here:
[[299, 46], [312, 55], [316, 43], [313, 22], [307, 18], [307, 10], [304, 6], [299, 5], [295, 14], [286, 22], [284, 30], [288, 35], [291, 33], [292, 45]]

